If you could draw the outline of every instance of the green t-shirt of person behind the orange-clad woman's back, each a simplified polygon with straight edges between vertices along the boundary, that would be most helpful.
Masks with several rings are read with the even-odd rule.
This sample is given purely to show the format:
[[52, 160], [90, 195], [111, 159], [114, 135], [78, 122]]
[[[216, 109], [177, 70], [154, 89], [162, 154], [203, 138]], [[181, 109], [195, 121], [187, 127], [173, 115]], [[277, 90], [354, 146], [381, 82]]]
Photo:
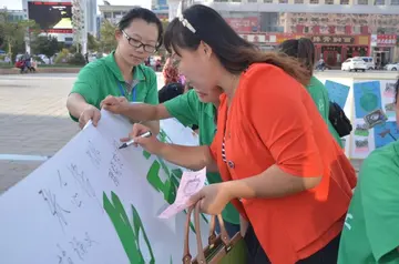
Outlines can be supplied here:
[[310, 93], [311, 99], [315, 101], [317, 109], [319, 110], [323, 119], [328, 125], [328, 130], [336, 139], [337, 143], [342, 148], [341, 139], [338, 132], [334, 129], [331, 122], [328, 119], [329, 115], [329, 99], [326, 87], [316, 78], [311, 77], [309, 85], [306, 88]]

